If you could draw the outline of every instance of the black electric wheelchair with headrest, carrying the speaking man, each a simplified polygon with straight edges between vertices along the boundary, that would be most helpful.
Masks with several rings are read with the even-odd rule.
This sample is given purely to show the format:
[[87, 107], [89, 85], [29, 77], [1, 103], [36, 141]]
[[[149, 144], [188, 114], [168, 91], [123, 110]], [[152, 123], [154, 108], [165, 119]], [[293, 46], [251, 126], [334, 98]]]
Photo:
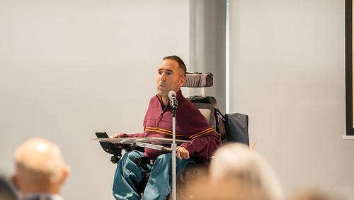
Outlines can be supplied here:
[[[201, 89], [200, 95], [189, 96], [187, 99], [200, 110], [208, 123], [210, 123], [210, 126], [212, 126], [217, 133], [220, 133], [223, 145], [235, 142], [249, 145], [249, 116], [242, 113], [222, 114], [222, 112], [217, 109], [216, 99], [212, 96], [204, 95], [204, 87], [212, 87], [212, 84], [213, 78], [211, 73], [187, 73], [183, 87]], [[111, 155], [110, 162], [113, 164], [118, 162], [124, 152], [130, 150], [140, 150], [144, 152], [144, 148], [149, 145], [147, 143], [137, 143], [135, 141], [127, 141], [127, 143], [112, 143], [105, 132], [96, 132], [96, 137], [102, 139], [99, 143], [103, 150]], [[179, 144], [182, 142], [183, 141], [179, 141]], [[161, 148], [161, 150], [166, 150], [166, 148]], [[137, 159], [135, 162], [149, 162], [149, 160]], [[205, 174], [207, 174], [207, 167], [205, 165], [188, 164], [182, 174], [176, 179], [177, 199], [189, 199], [189, 196], [186, 196], [185, 188], [188, 188], [190, 182], [195, 181], [195, 179], [198, 179], [198, 177]], [[149, 173], [147, 173], [145, 179], [143, 179], [137, 187], [141, 196], [148, 180]], [[168, 197], [168, 199], [170, 198]]]

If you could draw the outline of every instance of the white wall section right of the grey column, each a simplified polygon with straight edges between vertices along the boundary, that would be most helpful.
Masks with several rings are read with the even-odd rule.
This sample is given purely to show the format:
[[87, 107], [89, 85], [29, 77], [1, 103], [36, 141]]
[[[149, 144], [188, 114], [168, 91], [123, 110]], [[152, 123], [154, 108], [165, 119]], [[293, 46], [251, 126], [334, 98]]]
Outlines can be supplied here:
[[285, 195], [320, 187], [354, 196], [345, 121], [344, 0], [230, 0], [232, 111]]

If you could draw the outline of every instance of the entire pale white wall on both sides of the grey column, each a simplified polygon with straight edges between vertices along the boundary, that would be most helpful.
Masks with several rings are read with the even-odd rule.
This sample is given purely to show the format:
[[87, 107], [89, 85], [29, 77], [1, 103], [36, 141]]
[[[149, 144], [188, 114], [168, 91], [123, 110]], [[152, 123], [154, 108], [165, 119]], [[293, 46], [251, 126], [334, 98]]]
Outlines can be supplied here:
[[[188, 63], [188, 1], [0, 1], [0, 172], [33, 136], [72, 167], [66, 199], [112, 199], [96, 130], [141, 132], [165, 55]], [[344, 1], [230, 0], [231, 111], [285, 194], [354, 196], [345, 133]], [[188, 92], [186, 92], [188, 94]]]

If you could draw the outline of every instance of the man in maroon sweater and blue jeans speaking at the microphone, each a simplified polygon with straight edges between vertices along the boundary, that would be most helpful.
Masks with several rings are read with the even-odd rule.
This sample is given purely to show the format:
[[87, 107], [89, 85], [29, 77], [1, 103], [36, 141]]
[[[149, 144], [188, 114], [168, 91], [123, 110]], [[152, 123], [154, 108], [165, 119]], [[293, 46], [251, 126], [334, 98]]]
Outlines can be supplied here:
[[[182, 95], [186, 67], [180, 57], [164, 57], [156, 75], [158, 94], [149, 102], [144, 118], [144, 133], [117, 134], [111, 138], [172, 138], [172, 109], [169, 91], [176, 91], [176, 139], [189, 140], [176, 148], [176, 176], [188, 163], [209, 165], [209, 159], [221, 146], [220, 134], [210, 126], [200, 111]], [[167, 147], [167, 146], [166, 146]], [[170, 146], [171, 147], [171, 146]], [[113, 182], [115, 199], [140, 199], [139, 185], [150, 174], [142, 199], [166, 199], [171, 192], [172, 154], [152, 148], [132, 150], [120, 158]]]

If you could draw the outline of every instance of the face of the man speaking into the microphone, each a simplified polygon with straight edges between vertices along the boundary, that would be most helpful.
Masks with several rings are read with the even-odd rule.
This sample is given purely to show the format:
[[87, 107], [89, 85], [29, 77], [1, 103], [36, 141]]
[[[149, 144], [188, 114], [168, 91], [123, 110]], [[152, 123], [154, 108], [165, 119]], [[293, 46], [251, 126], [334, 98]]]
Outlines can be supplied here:
[[162, 98], [169, 98], [169, 91], [178, 91], [185, 82], [183, 70], [176, 60], [163, 60], [156, 75], [157, 92]]

